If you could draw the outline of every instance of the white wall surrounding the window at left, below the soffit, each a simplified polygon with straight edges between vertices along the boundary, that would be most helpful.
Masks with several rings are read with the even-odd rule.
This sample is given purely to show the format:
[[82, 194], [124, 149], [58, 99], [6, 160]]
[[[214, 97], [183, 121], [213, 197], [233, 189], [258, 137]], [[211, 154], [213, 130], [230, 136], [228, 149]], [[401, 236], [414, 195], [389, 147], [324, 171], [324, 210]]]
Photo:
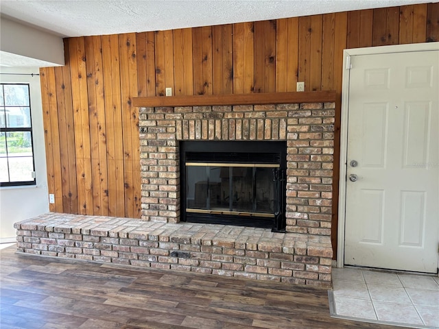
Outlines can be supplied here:
[[[1, 67], [0, 73], [39, 73], [38, 68]], [[36, 186], [0, 187], [0, 243], [15, 241], [14, 223], [49, 212], [47, 168], [45, 158], [43, 109], [41, 106], [40, 77], [38, 75], [0, 74], [2, 83], [29, 83], [31, 93], [32, 135]]]

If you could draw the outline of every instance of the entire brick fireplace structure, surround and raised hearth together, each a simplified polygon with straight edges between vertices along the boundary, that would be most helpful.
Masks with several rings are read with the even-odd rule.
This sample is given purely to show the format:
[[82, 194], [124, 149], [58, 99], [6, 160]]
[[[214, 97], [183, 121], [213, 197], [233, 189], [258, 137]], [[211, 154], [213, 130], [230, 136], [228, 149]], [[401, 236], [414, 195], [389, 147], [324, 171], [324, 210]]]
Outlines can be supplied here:
[[[51, 213], [16, 223], [18, 252], [331, 285], [335, 103], [140, 108], [139, 219]], [[180, 223], [179, 141], [287, 141], [286, 233]]]

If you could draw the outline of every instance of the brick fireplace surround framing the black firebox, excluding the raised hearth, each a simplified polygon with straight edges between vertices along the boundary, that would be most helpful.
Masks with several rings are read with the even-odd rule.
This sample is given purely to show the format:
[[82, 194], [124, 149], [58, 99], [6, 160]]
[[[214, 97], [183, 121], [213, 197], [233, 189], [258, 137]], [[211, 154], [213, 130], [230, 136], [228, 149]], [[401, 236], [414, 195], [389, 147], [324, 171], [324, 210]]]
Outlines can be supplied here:
[[331, 235], [335, 103], [140, 108], [142, 219], [178, 223], [180, 141], [286, 141], [287, 232]]

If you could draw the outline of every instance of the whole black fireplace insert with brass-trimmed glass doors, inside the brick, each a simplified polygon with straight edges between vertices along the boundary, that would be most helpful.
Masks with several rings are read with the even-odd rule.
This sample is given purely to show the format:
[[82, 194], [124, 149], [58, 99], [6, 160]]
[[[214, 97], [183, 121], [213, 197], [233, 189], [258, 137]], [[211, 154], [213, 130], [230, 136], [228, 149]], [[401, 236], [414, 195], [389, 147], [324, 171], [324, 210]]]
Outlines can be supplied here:
[[285, 141], [180, 142], [181, 220], [285, 232]]

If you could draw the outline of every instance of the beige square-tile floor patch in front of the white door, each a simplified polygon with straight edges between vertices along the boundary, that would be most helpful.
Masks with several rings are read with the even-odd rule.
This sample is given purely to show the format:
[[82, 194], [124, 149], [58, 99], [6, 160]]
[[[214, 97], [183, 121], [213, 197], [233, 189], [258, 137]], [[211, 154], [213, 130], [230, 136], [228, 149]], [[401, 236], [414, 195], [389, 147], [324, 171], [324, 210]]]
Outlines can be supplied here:
[[439, 278], [333, 269], [331, 315], [411, 328], [439, 328]]

